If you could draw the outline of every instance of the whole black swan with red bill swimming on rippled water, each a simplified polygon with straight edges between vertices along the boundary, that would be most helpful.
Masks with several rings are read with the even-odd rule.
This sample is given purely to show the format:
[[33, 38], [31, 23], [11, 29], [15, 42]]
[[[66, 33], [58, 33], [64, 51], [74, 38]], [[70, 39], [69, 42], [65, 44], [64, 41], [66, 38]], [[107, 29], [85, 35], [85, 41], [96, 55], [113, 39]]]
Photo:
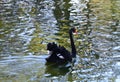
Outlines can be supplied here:
[[73, 33], [76, 33], [75, 28], [71, 28], [69, 30], [71, 53], [68, 50], [66, 50], [63, 46], [58, 46], [54, 42], [47, 44], [47, 50], [50, 51], [50, 56], [46, 58], [47, 62], [72, 62], [72, 58], [76, 57], [76, 48], [73, 40]]

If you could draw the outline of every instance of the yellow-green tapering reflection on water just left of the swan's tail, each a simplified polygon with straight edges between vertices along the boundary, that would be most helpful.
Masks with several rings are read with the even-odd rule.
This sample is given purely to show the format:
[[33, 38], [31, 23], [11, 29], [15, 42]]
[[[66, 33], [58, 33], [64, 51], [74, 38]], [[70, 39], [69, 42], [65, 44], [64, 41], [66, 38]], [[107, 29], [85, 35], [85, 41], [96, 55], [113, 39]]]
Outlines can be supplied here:
[[[41, 29], [39, 28], [39, 24], [38, 23], [35, 23], [36, 25], [36, 29], [34, 31], [34, 33], [32, 34], [32, 36], [34, 36], [31, 41], [30, 41], [30, 44], [29, 44], [29, 51], [30, 52], [34, 52], [34, 53], [39, 53], [40, 54], [43, 54], [44, 52], [46, 53], [46, 45], [43, 44], [43, 40], [44, 40], [44, 37], [40, 37], [39, 34], [42, 34], [43, 32], [41, 31]], [[43, 52], [43, 53], [41, 53]]]

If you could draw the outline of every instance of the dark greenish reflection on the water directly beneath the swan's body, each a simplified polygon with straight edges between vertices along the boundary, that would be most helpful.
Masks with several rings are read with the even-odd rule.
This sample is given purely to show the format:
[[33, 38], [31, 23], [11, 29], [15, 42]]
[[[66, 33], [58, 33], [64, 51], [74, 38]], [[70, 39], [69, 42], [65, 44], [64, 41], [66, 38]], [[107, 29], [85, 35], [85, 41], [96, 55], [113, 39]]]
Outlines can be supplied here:
[[64, 63], [64, 64], [46, 64], [45, 69], [45, 76], [46, 77], [52, 77], [52, 76], [59, 76], [59, 75], [66, 75], [71, 71], [71, 64], [70, 63]]

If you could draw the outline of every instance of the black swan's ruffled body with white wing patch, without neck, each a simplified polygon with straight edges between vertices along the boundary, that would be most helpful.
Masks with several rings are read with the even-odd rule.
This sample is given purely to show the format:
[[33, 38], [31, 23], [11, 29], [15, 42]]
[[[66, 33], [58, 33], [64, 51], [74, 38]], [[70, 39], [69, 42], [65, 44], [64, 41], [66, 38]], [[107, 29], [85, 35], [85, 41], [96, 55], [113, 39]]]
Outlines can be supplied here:
[[52, 52], [50, 56], [46, 58], [47, 62], [71, 62], [72, 56], [68, 50], [63, 46], [58, 46], [57, 44], [48, 43], [47, 50]]

